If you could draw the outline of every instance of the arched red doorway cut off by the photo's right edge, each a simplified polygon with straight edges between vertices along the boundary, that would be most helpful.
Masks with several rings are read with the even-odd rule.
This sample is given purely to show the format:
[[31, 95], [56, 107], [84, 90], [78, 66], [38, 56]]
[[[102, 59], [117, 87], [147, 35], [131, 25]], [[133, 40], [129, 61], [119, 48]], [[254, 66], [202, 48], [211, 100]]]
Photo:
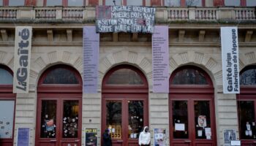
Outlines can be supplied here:
[[238, 123], [241, 145], [256, 142], [256, 66], [247, 66], [240, 73], [240, 94], [237, 94]]

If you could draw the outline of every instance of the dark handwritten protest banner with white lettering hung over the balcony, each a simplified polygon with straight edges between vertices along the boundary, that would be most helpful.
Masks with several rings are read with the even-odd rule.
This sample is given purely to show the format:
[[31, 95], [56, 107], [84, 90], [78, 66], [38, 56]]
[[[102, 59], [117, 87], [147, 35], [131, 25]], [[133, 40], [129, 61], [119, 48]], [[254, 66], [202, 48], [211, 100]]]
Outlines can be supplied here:
[[96, 9], [97, 32], [154, 32], [154, 7], [97, 6]]

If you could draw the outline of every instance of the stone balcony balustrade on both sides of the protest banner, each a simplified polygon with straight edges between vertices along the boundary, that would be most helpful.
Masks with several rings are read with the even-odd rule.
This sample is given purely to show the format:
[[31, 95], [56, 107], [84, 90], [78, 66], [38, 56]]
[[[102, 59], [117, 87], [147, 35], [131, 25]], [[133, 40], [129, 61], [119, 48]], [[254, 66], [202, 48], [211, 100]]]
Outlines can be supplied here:
[[[157, 22], [256, 20], [254, 7], [156, 7]], [[4, 20], [37, 20], [82, 22], [95, 20], [95, 7], [0, 7], [0, 23]], [[164, 21], [160, 21], [164, 20]], [[90, 21], [91, 22], [91, 21]]]

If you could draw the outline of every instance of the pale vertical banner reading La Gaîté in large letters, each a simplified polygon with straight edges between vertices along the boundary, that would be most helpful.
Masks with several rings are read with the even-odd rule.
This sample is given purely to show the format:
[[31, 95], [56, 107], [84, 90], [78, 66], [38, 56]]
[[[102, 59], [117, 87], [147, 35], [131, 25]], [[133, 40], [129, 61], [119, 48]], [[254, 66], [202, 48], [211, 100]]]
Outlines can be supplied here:
[[31, 26], [15, 28], [13, 93], [29, 93]]

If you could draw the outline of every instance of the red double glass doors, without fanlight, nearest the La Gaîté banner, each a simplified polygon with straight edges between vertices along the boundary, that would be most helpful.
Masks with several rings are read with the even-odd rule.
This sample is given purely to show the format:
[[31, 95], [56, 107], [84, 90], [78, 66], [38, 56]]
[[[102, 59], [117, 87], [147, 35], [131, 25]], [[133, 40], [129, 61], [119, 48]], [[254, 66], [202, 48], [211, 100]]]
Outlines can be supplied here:
[[80, 145], [80, 100], [40, 100], [38, 145]]

